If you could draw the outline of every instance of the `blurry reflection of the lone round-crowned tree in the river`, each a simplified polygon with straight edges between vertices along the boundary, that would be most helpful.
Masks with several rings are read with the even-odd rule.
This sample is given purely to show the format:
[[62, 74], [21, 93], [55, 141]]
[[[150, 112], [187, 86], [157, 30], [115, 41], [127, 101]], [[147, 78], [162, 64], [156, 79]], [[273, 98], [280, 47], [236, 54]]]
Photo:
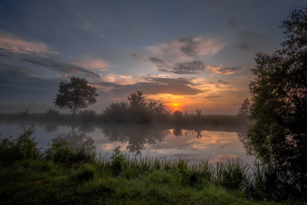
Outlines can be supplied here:
[[[79, 127], [80, 128], [80, 127]], [[94, 146], [94, 140], [92, 137], [87, 137], [85, 132], [75, 131], [75, 127], [72, 126], [72, 130], [68, 133], [61, 133], [56, 138], [52, 138], [53, 143], [68, 142], [68, 146], [71, 148], [84, 147], [88, 152], [93, 151], [96, 146]], [[82, 130], [82, 129], [81, 129]]]

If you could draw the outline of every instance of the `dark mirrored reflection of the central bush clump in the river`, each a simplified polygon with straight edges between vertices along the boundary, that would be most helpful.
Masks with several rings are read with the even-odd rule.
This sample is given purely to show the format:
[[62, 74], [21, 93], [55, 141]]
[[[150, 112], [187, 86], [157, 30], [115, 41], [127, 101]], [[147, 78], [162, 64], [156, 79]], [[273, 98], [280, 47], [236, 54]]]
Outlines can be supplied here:
[[102, 133], [111, 142], [128, 143], [126, 150], [140, 155], [145, 144], [157, 144], [170, 134], [169, 130], [153, 126], [133, 125], [108, 125], [102, 128]]

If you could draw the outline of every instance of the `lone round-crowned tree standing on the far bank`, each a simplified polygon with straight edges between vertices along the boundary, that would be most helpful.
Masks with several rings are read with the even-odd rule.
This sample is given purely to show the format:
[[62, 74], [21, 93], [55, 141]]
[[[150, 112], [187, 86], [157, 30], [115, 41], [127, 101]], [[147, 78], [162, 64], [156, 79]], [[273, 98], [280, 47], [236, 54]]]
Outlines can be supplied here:
[[96, 88], [88, 85], [85, 78], [71, 77], [69, 83], [60, 82], [59, 93], [56, 94], [55, 106], [61, 109], [70, 109], [74, 116], [80, 108], [86, 108], [95, 103], [98, 96]]

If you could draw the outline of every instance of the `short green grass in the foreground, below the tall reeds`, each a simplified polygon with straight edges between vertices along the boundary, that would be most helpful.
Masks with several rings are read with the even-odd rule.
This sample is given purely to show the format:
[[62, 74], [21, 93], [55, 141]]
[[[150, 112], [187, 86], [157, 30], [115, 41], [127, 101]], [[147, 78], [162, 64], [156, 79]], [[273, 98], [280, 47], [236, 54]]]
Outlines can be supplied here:
[[247, 199], [240, 191], [183, 182], [179, 171], [144, 171], [118, 176], [94, 164], [63, 167], [21, 160], [0, 167], [1, 204], [289, 204]]

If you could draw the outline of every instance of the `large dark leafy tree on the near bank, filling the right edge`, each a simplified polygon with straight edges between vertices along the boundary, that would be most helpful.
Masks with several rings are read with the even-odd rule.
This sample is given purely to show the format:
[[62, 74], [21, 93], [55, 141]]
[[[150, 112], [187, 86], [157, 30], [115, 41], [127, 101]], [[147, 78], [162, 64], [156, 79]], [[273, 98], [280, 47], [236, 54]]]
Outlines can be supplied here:
[[276, 167], [278, 197], [307, 197], [307, 6], [282, 22], [286, 41], [255, 57], [248, 152]]

